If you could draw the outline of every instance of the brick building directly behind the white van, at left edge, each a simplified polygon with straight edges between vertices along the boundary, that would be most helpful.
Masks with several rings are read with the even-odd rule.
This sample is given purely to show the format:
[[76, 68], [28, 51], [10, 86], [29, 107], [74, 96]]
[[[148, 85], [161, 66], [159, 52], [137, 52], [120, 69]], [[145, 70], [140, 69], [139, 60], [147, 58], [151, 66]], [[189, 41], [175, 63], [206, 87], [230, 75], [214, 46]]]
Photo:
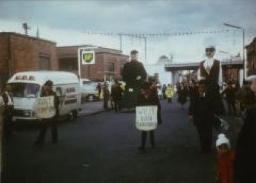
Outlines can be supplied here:
[[0, 88], [20, 71], [58, 70], [56, 43], [18, 33], [0, 33]]

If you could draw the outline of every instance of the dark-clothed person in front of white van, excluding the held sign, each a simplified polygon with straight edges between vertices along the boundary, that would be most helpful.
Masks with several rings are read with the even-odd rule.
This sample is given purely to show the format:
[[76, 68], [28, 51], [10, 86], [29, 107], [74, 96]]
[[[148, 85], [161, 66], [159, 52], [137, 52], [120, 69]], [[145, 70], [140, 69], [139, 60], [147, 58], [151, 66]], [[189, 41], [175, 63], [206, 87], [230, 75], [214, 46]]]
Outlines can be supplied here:
[[41, 93], [41, 97], [44, 96], [54, 96], [54, 108], [55, 108], [55, 115], [52, 118], [49, 119], [42, 119], [42, 121], [40, 121], [40, 131], [39, 131], [39, 135], [38, 138], [35, 142], [35, 145], [44, 145], [44, 140], [45, 140], [45, 135], [46, 135], [46, 131], [47, 131], [47, 127], [50, 125], [51, 126], [51, 131], [52, 131], [52, 143], [57, 143], [58, 142], [58, 117], [60, 115], [59, 113], [59, 98], [56, 95], [56, 92], [52, 91], [52, 81], [51, 80], [47, 80], [47, 82], [45, 82], [44, 86], [42, 87], [42, 93]]

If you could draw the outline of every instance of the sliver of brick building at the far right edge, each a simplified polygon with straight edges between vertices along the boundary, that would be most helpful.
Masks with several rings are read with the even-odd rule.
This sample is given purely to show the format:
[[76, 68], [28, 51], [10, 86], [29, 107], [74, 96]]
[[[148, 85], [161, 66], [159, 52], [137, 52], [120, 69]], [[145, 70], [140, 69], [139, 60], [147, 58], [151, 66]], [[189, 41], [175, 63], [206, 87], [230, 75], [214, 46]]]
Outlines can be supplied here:
[[248, 76], [256, 75], [256, 38], [246, 46]]

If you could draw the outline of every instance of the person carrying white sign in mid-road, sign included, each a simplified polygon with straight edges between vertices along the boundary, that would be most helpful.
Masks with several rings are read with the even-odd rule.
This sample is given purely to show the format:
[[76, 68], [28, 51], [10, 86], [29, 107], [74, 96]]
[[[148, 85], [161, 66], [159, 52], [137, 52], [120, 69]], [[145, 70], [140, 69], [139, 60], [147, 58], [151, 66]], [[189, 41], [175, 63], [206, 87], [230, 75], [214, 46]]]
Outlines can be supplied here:
[[[157, 96], [157, 93], [152, 89], [152, 84], [149, 82], [145, 82], [143, 84], [143, 87], [141, 89], [141, 93], [138, 97], [138, 105], [137, 106], [157, 106], [157, 122], [160, 124], [161, 123], [161, 104], [159, 102], [159, 98]], [[138, 107], [136, 108], [136, 110]], [[137, 115], [137, 113], [136, 113]], [[149, 119], [148, 119], [149, 120]], [[137, 123], [137, 121], [136, 121]], [[144, 124], [148, 124], [145, 122]], [[138, 127], [137, 127], [138, 128]], [[145, 126], [145, 129], [147, 126]], [[140, 128], [141, 129], [141, 128]], [[152, 145], [152, 148], [154, 149], [155, 147], [155, 142], [154, 142], [154, 129], [148, 130], [150, 133], [150, 143]], [[143, 153], [146, 152], [145, 150], [145, 145], [146, 145], [146, 139], [147, 139], [147, 131], [146, 130], [141, 130], [141, 146], [139, 147], [139, 150]]]

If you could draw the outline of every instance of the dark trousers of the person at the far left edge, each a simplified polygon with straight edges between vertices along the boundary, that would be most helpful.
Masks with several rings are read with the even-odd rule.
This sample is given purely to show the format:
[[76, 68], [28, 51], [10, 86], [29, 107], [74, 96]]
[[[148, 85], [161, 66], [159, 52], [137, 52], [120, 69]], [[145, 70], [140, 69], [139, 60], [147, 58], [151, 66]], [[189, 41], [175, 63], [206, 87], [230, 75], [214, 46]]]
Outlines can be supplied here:
[[12, 117], [13, 117], [13, 106], [5, 106], [4, 108], [4, 135], [12, 134]]

